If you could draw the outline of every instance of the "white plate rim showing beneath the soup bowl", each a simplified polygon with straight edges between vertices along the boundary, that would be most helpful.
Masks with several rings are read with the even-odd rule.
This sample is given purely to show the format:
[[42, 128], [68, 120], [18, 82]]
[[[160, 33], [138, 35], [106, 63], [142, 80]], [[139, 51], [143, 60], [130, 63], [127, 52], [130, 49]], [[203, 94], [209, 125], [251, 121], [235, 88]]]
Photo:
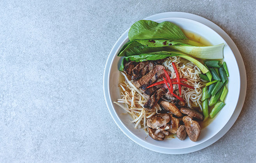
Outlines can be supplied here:
[[[171, 15], [173, 15], [173, 16], [171, 16]], [[178, 15], [178, 16], [175, 16], [175, 15]], [[183, 16], [181, 16], [181, 15], [183, 15]], [[207, 19], [205, 19], [205, 18], [202, 18], [201, 16], [197, 16], [197, 15], [194, 15], [194, 14], [190, 14], [190, 13], [186, 13], [186, 12], [163, 12], [163, 13], [160, 13], [160, 14], [155, 14], [155, 15], [152, 15], [152, 16], [149, 16], [149, 17], [147, 17], [147, 18], [145, 18], [145, 19], [155, 19], [155, 20], [157, 20], [157, 19], [164, 19], [164, 18], [184, 18], [184, 16], [187, 16], [187, 17], [198, 17], [198, 18], [200, 18], [200, 19], [202, 19], [201, 21], [203, 21], [203, 22], [201, 22], [201, 21], [198, 21], [198, 20], [196, 20], [196, 19], [191, 19], [191, 18], [185, 18], [185, 19], [190, 19], [190, 20], [192, 20], [192, 21], [197, 21], [197, 22], [199, 22], [199, 23], [202, 23], [203, 25], [205, 25], [205, 26], [207, 26], [208, 28], [210, 28], [211, 30], [213, 30], [215, 33], [217, 33], [218, 35], [220, 35], [221, 37], [222, 37], [222, 39], [224, 39], [225, 40], [225, 42], [228, 42], [229, 41], [229, 44], [228, 44], [228, 46], [230, 47], [230, 49], [231, 49], [231, 51], [233, 52], [233, 54], [234, 54], [234, 56], [235, 56], [235, 58], [236, 58], [236, 62], [237, 62], [237, 65], [238, 65], [238, 70], [239, 70], [239, 75], [240, 75], [240, 84], [241, 84], [241, 70], [240, 70], [240, 68], [242, 68], [243, 70], [244, 70], [244, 72], [245, 72], [245, 67], [244, 67], [244, 62], [242, 61], [242, 65], [240, 65], [240, 66], [242, 66], [242, 67], [240, 67], [239, 66], [239, 64], [238, 64], [238, 59], [240, 59], [240, 61], [242, 60], [242, 56], [241, 56], [241, 54], [240, 54], [240, 52], [238, 51], [238, 49], [237, 49], [237, 46], [235, 46], [235, 43], [233, 42], [233, 40], [231, 40], [231, 38], [226, 34], [226, 32], [224, 32], [219, 26], [217, 26], [217, 25], [215, 25], [214, 23], [212, 23], [211, 21], [209, 21], [209, 20], [207, 20]], [[220, 30], [221, 30], [221, 32], [222, 32], [222, 34], [226, 34], [226, 36], [228, 36], [228, 37], [226, 37], [226, 39], [228, 39], [228, 41], [225, 39], [225, 38], [223, 38], [223, 36], [220, 34], [220, 33], [218, 33], [218, 32], [216, 32], [213, 28], [211, 28], [212, 26], [209, 26], [209, 25], [206, 25], [205, 24], [205, 22], [207, 22], [208, 21], [208, 23], [210, 22], [210, 24], [212, 24], [212, 26], [217, 26]], [[129, 30], [129, 29], [128, 29]], [[117, 42], [115, 43], [115, 45], [113, 46], [113, 48], [111, 49], [111, 52], [109, 53], [109, 54], [111, 54], [111, 53], [113, 53], [113, 51], [114, 51], [114, 49], [115, 49], [115, 51], [117, 51], [119, 48], [120, 48], [120, 46], [118, 46], [118, 47], [116, 47], [117, 46], [117, 43], [118, 44], [120, 44], [120, 43], [122, 43], [127, 37], [125, 37], [125, 33], [128, 31], [128, 30], [126, 30], [123, 34], [122, 34], [122, 36], [117, 40]], [[224, 32], [224, 33], [223, 33]], [[120, 42], [121, 41], [121, 42]], [[235, 48], [235, 50], [236, 50], [236, 53], [234, 53], [234, 49], [232, 49], [231, 48], [231, 46], [230, 46], [230, 43], [232, 44], [232, 46], [233, 46], [233, 48]], [[114, 47], [116, 47], [116, 48], [114, 48]], [[114, 51], [114, 52], [115, 52]], [[238, 57], [238, 58], [237, 58]], [[107, 104], [107, 106], [108, 106], [108, 110], [109, 110], [109, 113], [111, 114], [111, 116], [112, 116], [112, 118], [113, 118], [113, 120], [115, 121], [115, 123], [117, 124], [117, 126], [120, 128], [120, 130], [122, 130], [124, 133], [125, 133], [125, 135], [127, 135], [127, 137], [129, 137], [132, 141], [134, 141], [134, 142], [136, 142], [137, 144], [139, 144], [139, 145], [141, 145], [141, 146], [143, 146], [143, 147], [145, 147], [145, 148], [147, 148], [147, 149], [150, 149], [150, 150], [152, 150], [152, 151], [156, 151], [156, 152], [161, 152], [161, 153], [168, 153], [168, 154], [182, 154], [182, 153], [188, 153], [188, 152], [194, 152], [194, 151], [198, 151], [198, 150], [200, 150], [200, 149], [203, 149], [203, 148], [205, 148], [205, 147], [207, 147], [208, 145], [210, 145], [210, 144], [212, 144], [212, 143], [214, 143], [214, 142], [216, 142], [217, 140], [219, 140], [219, 138], [221, 138], [230, 128], [231, 128], [231, 126], [233, 126], [233, 124], [235, 123], [235, 121], [236, 121], [236, 119], [237, 119], [237, 117], [238, 117], [238, 115], [240, 114], [240, 111], [241, 111], [241, 109], [242, 109], [242, 105], [243, 105], [243, 103], [244, 103], [244, 98], [245, 98], [245, 93], [243, 93], [244, 94], [244, 98], [242, 97], [242, 105], [241, 105], [241, 108], [240, 109], [237, 109], [237, 107], [238, 107], [238, 102], [239, 102], [239, 99], [240, 99], [240, 96], [241, 96], [241, 89], [240, 89], [240, 91], [239, 91], [239, 96], [238, 96], [238, 101], [237, 101], [237, 105], [236, 105], [236, 108], [233, 110], [233, 114], [231, 114], [231, 117], [230, 117], [230, 119], [229, 119], [229, 121], [224, 125], [224, 127], [221, 129], [221, 130], [219, 130], [219, 132], [217, 132], [217, 134], [215, 134], [213, 137], [211, 137], [210, 139], [208, 139], [208, 140], [206, 140], [205, 142], [202, 142], [201, 144], [198, 144], [198, 145], [195, 145], [195, 146], [192, 146], [192, 147], [186, 147], [186, 148], [183, 148], [183, 149], [167, 149], [167, 148], [164, 148], [164, 147], [157, 147], [157, 146], [155, 146], [155, 145], [153, 145], [153, 144], [149, 144], [149, 143], [147, 143], [147, 142], [140, 142], [141, 140], [138, 138], [138, 137], [136, 137], [134, 134], [132, 134], [129, 130], [127, 130], [127, 128], [125, 127], [125, 126], [123, 126], [122, 125], [122, 123], [120, 123], [120, 124], [118, 124], [117, 123], [117, 120], [119, 120], [120, 121], [120, 119], [119, 119], [119, 117], [115, 114], [115, 111], [113, 110], [113, 112], [114, 112], [114, 114], [115, 115], [112, 115], [112, 113], [111, 113], [111, 110], [109, 109], [109, 105], [110, 105], [110, 107], [112, 108], [113, 106], [112, 106], [112, 103], [111, 103], [111, 101], [110, 101], [110, 103], [108, 102], [108, 98], [109, 98], [109, 92], [107, 91], [106, 92], [106, 87], [107, 87], [107, 90], [108, 90], [108, 79], [106, 79], [106, 77], [108, 77], [108, 75], [109, 75], [109, 70], [110, 70], [110, 67], [111, 66], [109, 66], [109, 67], [107, 67], [108, 66], [108, 63], [109, 63], [109, 61], [110, 61], [110, 65], [112, 64], [112, 60], [113, 60], [113, 58], [111, 57], [109, 57], [108, 56], [108, 60], [106, 61], [106, 66], [105, 66], [105, 70], [104, 70], [104, 76], [103, 76], [103, 89], [104, 89], [104, 97], [105, 97], [105, 100], [106, 100], [106, 104]], [[244, 73], [245, 74], [245, 73]], [[244, 76], [244, 75], [243, 75]], [[245, 81], [246, 81], [246, 75], [245, 75]], [[246, 82], [245, 82], [245, 91], [246, 91]], [[108, 95], [108, 97], [106, 96], [106, 95]], [[110, 98], [109, 98], [109, 100], [110, 100]], [[241, 103], [241, 100], [240, 100], [240, 103]], [[113, 108], [112, 108], [113, 109]], [[214, 138], [216, 135], [218, 135], [226, 126], [227, 126], [227, 124], [230, 122], [230, 120], [231, 120], [231, 118], [234, 116], [234, 112], [236, 111], [236, 110], [238, 110], [238, 114], [235, 114], [235, 121], [231, 124], [231, 126], [230, 126], [230, 128], [228, 128], [228, 130], [226, 130], [226, 131], [224, 131], [224, 134], [221, 136], [221, 137], [219, 137], [219, 138]], [[116, 116], [116, 117], [114, 117], [114, 116]], [[117, 118], [117, 119], [116, 119]], [[124, 127], [127, 131], [124, 131], [123, 130], [123, 128], [122, 127]], [[128, 133], [127, 133], [128, 132]], [[130, 135], [131, 134], [131, 135]], [[135, 140], [135, 139], [138, 139], [138, 140]], [[215, 139], [214, 141], [210, 141], [211, 139]], [[208, 143], [207, 143], [208, 142]], [[210, 142], [210, 143], [209, 143]], [[146, 144], [147, 145], [146, 145]], [[205, 145], [203, 145], [203, 144], [205, 144]], [[152, 147], [148, 147], [148, 145], [149, 146], [152, 146]], [[198, 148], [199, 147], [199, 148]], [[165, 150], [165, 151], [162, 151], [162, 150], [159, 150], [159, 149], [157, 149], [157, 148], [159, 148], [159, 149], [163, 149], [163, 150]], [[194, 148], [194, 149], [193, 149]], [[186, 151], [184, 151], [184, 149], [188, 149], [188, 150], [186, 150]], [[166, 151], [166, 150], [168, 150], [168, 151]], [[173, 152], [173, 151], [171, 151], [171, 150], [183, 150], [183, 152]]]

